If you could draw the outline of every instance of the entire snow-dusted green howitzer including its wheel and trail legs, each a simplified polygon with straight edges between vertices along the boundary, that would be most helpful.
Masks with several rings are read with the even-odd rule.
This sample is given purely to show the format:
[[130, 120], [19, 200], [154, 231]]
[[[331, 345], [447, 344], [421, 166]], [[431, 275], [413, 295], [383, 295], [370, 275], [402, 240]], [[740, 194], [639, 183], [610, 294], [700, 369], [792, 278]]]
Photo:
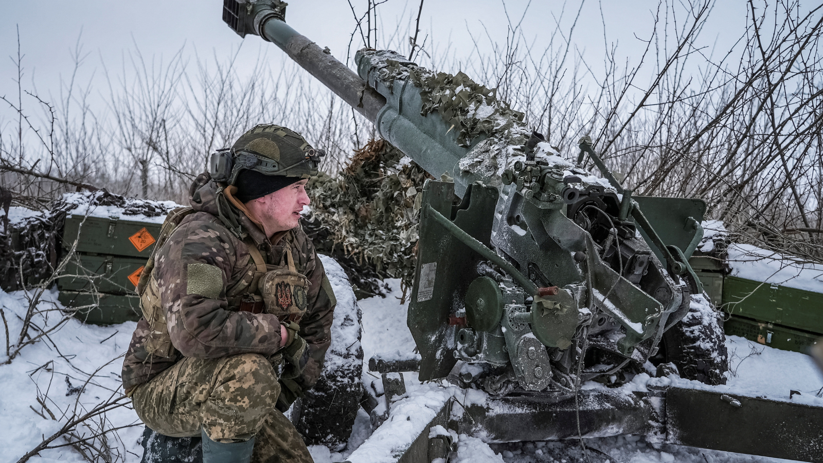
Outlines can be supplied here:
[[[768, 432], [762, 418], [785, 413], [756, 399], [725, 400], [752, 404], [742, 409], [760, 428], [713, 433], [697, 430], [695, 409], [705, 409], [701, 423], [717, 414], [720, 431], [737, 421], [714, 406], [723, 399], [714, 392], [578, 391], [583, 381], [619, 386], [622, 371], [667, 362], [689, 379], [724, 381], [723, 330], [688, 264], [702, 236], [700, 199], [632, 198], [588, 137], [576, 161], [560, 157], [527, 129], [521, 113], [462, 72], [435, 73], [391, 51], [364, 49], [355, 74], [287, 26], [283, 2], [226, 0], [223, 14], [239, 35], [277, 44], [370, 119], [382, 138], [442, 179], [426, 182], [419, 196], [420, 250], [408, 312], [421, 354], [418, 377], [444, 378], [462, 361], [461, 386], [490, 395], [464, 409], [468, 428], [444, 412], [453, 404], [444, 400], [393, 456], [422, 455], [435, 424], [499, 442], [570, 437], [578, 411], [580, 428], [591, 436], [643, 433], [733, 450]], [[605, 179], [585, 170], [587, 155]], [[819, 431], [820, 409], [802, 416], [790, 427]], [[378, 421], [393, 426], [391, 416], [384, 419]], [[535, 424], [528, 436], [509, 426], [523, 420]], [[797, 444], [808, 436], [798, 431], [782, 447], [749, 450], [800, 457]]]

